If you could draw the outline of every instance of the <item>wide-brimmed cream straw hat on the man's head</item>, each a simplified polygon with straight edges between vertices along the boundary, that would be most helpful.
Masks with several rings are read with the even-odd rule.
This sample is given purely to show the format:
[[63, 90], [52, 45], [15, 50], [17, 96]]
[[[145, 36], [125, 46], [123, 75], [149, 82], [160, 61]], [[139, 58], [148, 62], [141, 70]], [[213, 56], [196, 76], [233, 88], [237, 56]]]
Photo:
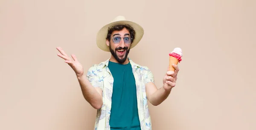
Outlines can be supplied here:
[[106, 44], [108, 28], [111, 28], [112, 26], [116, 26], [119, 24], [122, 24], [122, 25], [129, 24], [135, 30], [135, 39], [134, 39], [133, 43], [131, 44], [131, 48], [133, 48], [134, 46], [137, 45], [137, 43], [139, 43], [139, 41], [141, 40], [141, 38], [144, 35], [144, 29], [138, 23], [135, 23], [130, 20], [126, 20], [124, 16], [117, 16], [110, 23], [106, 24], [99, 30], [99, 32], [96, 36], [96, 43], [100, 49], [102, 49], [106, 52], [109, 52], [109, 47]]

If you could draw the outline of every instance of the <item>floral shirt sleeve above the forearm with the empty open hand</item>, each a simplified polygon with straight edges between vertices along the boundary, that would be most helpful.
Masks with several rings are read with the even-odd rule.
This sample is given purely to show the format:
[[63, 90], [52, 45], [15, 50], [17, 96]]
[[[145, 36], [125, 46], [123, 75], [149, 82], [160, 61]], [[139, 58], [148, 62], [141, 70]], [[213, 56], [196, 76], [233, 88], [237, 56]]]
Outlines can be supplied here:
[[87, 79], [93, 87], [100, 87], [103, 90], [103, 79], [100, 78], [98, 69], [95, 65], [88, 69]]

